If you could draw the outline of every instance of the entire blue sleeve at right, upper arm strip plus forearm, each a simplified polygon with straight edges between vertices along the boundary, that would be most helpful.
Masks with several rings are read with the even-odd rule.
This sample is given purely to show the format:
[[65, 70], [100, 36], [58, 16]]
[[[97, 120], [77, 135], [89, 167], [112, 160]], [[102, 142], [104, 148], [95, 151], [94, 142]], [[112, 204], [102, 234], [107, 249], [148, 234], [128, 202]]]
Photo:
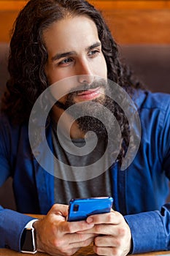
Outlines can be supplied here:
[[[170, 179], [170, 104], [165, 102], [165, 105], [158, 150], [162, 170]], [[133, 254], [170, 250], [170, 203], [162, 206], [160, 211], [126, 215], [125, 220], [131, 229]]]

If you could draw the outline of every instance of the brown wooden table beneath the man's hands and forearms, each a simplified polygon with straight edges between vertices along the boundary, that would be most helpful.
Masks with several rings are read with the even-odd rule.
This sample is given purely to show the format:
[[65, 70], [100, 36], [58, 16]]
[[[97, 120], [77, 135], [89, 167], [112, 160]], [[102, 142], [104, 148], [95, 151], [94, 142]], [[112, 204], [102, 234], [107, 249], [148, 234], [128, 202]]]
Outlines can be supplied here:
[[[42, 215], [33, 215], [33, 214], [28, 214], [31, 217], [40, 219], [43, 216]], [[31, 254], [28, 253], [20, 253], [20, 252], [15, 252], [12, 251], [11, 249], [0, 249], [0, 256], [28, 256]], [[42, 253], [42, 252], [37, 252], [35, 254], [36, 256], [49, 256], [47, 253]], [[96, 256], [96, 253], [93, 252], [93, 246], [86, 246], [82, 247], [78, 252], [74, 254], [74, 256]], [[147, 256], [147, 255], [169, 255], [170, 256], [170, 251], [163, 251], [163, 252], [147, 252], [143, 254], [138, 254], [136, 256]], [[56, 255], [57, 256], [57, 255]], [[134, 255], [133, 255], [134, 256]]]

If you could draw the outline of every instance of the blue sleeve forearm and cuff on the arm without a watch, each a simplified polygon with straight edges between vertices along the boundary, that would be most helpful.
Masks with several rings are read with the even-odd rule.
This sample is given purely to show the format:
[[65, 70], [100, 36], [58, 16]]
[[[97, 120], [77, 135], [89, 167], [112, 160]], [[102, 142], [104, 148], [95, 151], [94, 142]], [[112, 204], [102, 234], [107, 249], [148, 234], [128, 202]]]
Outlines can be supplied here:
[[132, 254], [170, 249], [169, 211], [164, 207], [163, 210], [164, 214], [150, 211], [125, 216], [131, 229]]

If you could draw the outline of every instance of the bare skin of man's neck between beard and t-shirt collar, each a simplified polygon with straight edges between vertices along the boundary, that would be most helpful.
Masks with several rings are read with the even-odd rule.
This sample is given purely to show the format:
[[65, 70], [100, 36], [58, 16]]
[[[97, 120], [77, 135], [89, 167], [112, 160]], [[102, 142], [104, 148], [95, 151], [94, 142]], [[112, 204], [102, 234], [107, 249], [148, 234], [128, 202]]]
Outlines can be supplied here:
[[55, 123], [58, 123], [63, 113], [64, 115], [66, 115], [60, 120], [60, 128], [63, 130], [63, 132], [66, 132], [68, 135], [70, 135], [70, 138], [72, 139], [85, 138], [85, 133], [80, 130], [77, 122], [74, 121], [72, 116], [66, 113], [65, 110], [58, 108], [56, 105], [54, 105], [52, 108], [53, 121], [55, 121]]

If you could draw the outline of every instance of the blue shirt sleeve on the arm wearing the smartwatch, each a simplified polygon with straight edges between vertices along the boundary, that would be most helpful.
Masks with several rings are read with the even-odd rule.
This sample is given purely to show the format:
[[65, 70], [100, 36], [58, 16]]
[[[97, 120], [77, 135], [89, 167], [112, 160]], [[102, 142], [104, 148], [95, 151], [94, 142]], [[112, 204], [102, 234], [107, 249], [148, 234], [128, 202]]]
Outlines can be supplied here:
[[[7, 118], [0, 116], [0, 186], [12, 176], [11, 143]], [[23, 228], [33, 218], [0, 206], [0, 248], [20, 251]]]

